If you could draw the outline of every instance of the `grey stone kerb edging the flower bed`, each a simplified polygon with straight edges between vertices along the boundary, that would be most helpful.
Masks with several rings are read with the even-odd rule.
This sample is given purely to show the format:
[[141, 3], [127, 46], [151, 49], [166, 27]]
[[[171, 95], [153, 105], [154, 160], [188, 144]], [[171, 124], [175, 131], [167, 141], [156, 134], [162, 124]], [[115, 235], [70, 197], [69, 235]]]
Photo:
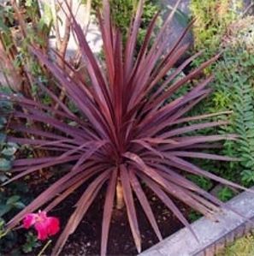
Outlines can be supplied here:
[[[252, 188], [253, 189], [253, 188]], [[244, 192], [233, 198], [227, 205], [240, 214], [253, 219], [254, 217], [254, 193]], [[246, 227], [250, 230], [253, 225], [244, 218], [239, 217], [233, 211], [223, 211], [218, 217], [219, 222], [213, 222], [205, 217], [192, 223], [192, 229], [198, 235], [199, 243], [191, 232], [184, 228], [159, 242], [139, 256], [194, 256], [214, 255], [216, 245], [221, 242], [222, 247], [227, 243], [228, 235], [233, 238], [246, 233]], [[241, 232], [239, 234], [239, 229]], [[231, 239], [233, 241], [233, 239]], [[210, 247], [212, 247], [212, 251]], [[205, 253], [208, 252], [209, 253]]]

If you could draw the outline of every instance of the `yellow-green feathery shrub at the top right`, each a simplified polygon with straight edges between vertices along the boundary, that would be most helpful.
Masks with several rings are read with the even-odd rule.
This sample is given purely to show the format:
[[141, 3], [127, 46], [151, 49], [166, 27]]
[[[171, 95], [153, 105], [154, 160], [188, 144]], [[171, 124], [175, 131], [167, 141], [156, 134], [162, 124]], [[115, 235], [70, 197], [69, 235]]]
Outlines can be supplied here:
[[[199, 65], [205, 59], [216, 54], [222, 43], [222, 37], [228, 25], [237, 18], [237, 9], [241, 1], [237, 1], [235, 8], [231, 8], [229, 0], [192, 0], [190, 9], [192, 16], [197, 19], [193, 27], [195, 51], [204, 50], [194, 65]], [[212, 73], [214, 66], [207, 69]]]

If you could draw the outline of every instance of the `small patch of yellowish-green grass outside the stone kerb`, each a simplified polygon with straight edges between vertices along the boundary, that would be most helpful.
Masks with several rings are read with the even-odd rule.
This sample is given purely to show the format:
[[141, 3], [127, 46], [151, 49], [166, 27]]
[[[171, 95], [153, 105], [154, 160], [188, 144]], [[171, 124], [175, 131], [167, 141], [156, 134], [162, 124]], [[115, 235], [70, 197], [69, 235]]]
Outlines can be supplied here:
[[254, 235], [245, 235], [242, 238], [228, 245], [222, 253], [216, 256], [253, 256], [254, 255]]

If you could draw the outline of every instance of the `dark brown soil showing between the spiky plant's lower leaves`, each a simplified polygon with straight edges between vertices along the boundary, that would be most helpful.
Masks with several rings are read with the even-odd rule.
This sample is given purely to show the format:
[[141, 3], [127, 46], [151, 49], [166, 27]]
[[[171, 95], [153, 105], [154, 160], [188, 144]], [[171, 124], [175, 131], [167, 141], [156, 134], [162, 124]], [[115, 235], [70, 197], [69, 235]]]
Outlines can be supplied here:
[[[163, 205], [151, 191], [146, 194], [151, 201], [152, 210], [157, 218], [158, 226], [163, 237], [173, 234], [183, 227], [171, 211]], [[77, 197], [77, 196], [75, 196]], [[51, 211], [51, 214], [61, 217], [62, 223], [68, 221], [68, 217], [74, 211], [72, 208], [75, 199], [68, 199], [64, 205]], [[99, 195], [95, 203], [86, 213], [85, 218], [80, 223], [78, 229], [68, 239], [66, 246], [63, 248], [61, 255], [98, 255], [100, 251], [101, 225], [103, 217], [103, 193]], [[158, 242], [157, 236], [151, 229], [151, 225], [145, 217], [145, 213], [137, 199], [135, 199], [137, 215], [139, 219], [139, 229], [142, 236], [142, 250], [145, 250]], [[181, 204], [177, 204], [180, 210], [187, 217], [189, 210]], [[137, 255], [136, 247], [133, 243], [131, 230], [127, 222], [126, 209], [122, 211], [115, 210], [110, 231], [108, 255]]]

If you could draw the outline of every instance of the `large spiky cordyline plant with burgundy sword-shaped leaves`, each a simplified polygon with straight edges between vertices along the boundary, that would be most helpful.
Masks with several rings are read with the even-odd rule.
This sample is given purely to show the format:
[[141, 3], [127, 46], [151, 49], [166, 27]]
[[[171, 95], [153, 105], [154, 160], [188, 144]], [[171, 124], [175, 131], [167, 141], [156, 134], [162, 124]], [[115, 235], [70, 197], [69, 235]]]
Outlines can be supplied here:
[[[27, 213], [42, 208], [42, 211], [50, 211], [89, 182], [56, 241], [53, 255], [61, 252], [68, 236], [74, 233], [104, 186], [107, 190], [103, 208], [102, 255], [106, 254], [116, 191], [122, 191], [133, 239], [140, 252], [141, 237], [134, 196], [143, 207], [158, 239], [162, 239], [151, 205], [145, 195], [144, 186], [150, 188], [193, 235], [195, 234], [191, 226], [174, 204], [174, 199], [184, 202], [207, 217], [213, 217], [221, 206], [227, 207], [227, 205], [198, 188], [186, 178], [186, 174], [204, 176], [227, 186], [242, 188], [201, 170], [187, 160], [188, 158], [235, 160], [201, 152], [215, 146], [216, 143], [210, 144], [210, 142], [234, 140], [233, 134], [227, 136], [188, 134], [199, 129], [227, 124], [224, 121], [192, 123], [215, 115], [186, 117], [186, 113], [210, 93], [207, 85], [212, 80], [212, 76], [193, 86], [192, 90], [180, 98], [169, 100], [174, 92], [186, 85], [186, 82], [200, 76], [204, 68], [215, 62], [218, 56], [203, 63], [180, 80], [175, 80], [183, 68], [200, 56], [199, 52], [167, 76], [174, 63], [187, 50], [188, 45], [180, 45], [180, 42], [186, 35], [188, 27], [167, 51], [165, 31], [174, 16], [176, 4], [174, 11], [168, 15], [156, 39], [151, 43], [158, 14], [155, 15], [147, 29], [144, 43], [136, 53], [135, 44], [143, 5], [144, 0], [140, 0], [137, 13], [129, 28], [127, 43], [123, 47], [121, 33], [112, 25], [109, 18], [109, 2], [103, 0], [103, 10], [98, 14], [105, 57], [103, 68], [92, 54], [81, 27], [73, 17], [72, 28], [79, 42], [80, 53], [89, 77], [86, 82], [78, 74], [73, 79], [71, 74], [65, 71], [66, 69], [63, 70], [57, 63], [52, 62], [42, 51], [31, 48], [38, 60], [56, 77], [59, 87], [67, 92], [69, 100], [80, 110], [79, 114], [69, 110], [68, 105], [59, 101], [50, 88], [44, 85], [41, 85], [42, 89], [59, 104], [58, 110], [27, 98], [10, 97], [16, 105], [10, 127], [15, 131], [30, 134], [30, 139], [9, 136], [9, 140], [52, 152], [51, 157], [47, 158], [15, 160], [13, 172], [16, 175], [10, 181], [58, 164], [69, 163], [73, 164], [73, 167], [64, 172], [62, 177], [50, 185], [50, 188], [38, 195], [30, 205], [11, 219], [8, 227], [15, 227]], [[68, 68], [71, 70], [70, 73], [74, 72], [72, 67], [68, 66]], [[2, 98], [7, 96], [2, 95]], [[37, 122], [44, 124], [44, 130], [29, 126], [30, 123]]]

